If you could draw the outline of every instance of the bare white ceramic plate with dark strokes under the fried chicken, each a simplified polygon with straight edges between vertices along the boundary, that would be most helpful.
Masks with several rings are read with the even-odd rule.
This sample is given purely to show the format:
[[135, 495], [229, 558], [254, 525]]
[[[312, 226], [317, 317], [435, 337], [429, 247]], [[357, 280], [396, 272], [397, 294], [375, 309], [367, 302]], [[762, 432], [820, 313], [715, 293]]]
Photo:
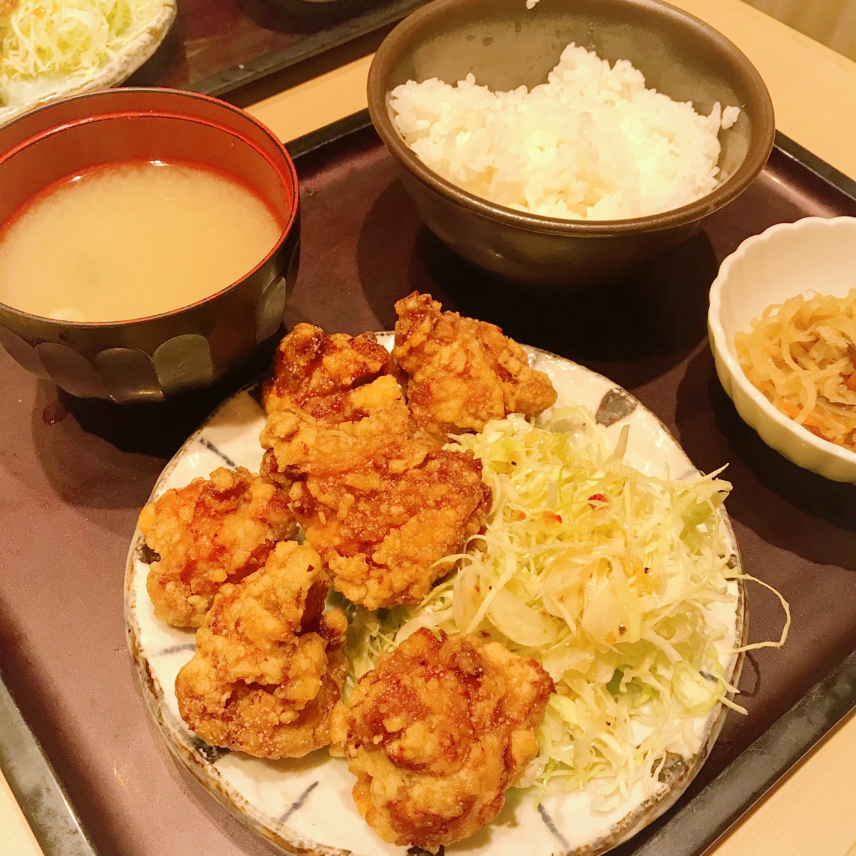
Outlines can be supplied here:
[[[389, 334], [379, 339], [391, 346]], [[533, 348], [526, 350], [530, 364], [550, 375], [559, 405], [576, 401], [597, 412], [598, 421], [605, 424], [604, 431], [613, 440], [622, 425], [631, 425], [628, 463], [651, 475], [668, 472], [681, 478], [698, 473], [659, 419], [627, 392], [568, 360]], [[262, 455], [259, 431], [264, 425], [258, 387], [237, 393], [169, 462], [152, 499], [198, 476], [207, 477], [217, 467], [242, 465], [258, 472]], [[734, 561], [739, 562], [725, 514], [721, 524]], [[194, 631], [169, 627], [155, 618], [146, 594], [150, 558], [138, 531], [128, 553], [125, 580], [128, 646], [139, 669], [146, 703], [172, 752], [236, 817], [289, 852], [336, 856], [407, 853], [404, 847], [381, 841], [360, 817], [351, 799], [354, 777], [343, 759], [330, 758], [325, 749], [299, 760], [250, 758], [207, 746], [187, 729], [173, 687], [178, 670], [193, 655]], [[718, 604], [719, 611], [711, 619], [727, 628], [723, 647], [740, 645], [746, 638], [742, 587], [734, 583], [730, 593], [733, 598]], [[722, 662], [726, 675], [736, 681], [741, 657], [722, 657]], [[548, 796], [536, 807], [529, 791], [512, 789], [494, 823], [467, 841], [446, 847], [445, 852], [473, 856], [603, 853], [650, 823], [681, 795], [707, 758], [723, 716], [722, 705], [717, 705], [710, 715], [687, 721], [687, 757], [669, 765], [669, 776], [652, 794], [640, 785], [612, 811], [596, 812], [587, 792]]]

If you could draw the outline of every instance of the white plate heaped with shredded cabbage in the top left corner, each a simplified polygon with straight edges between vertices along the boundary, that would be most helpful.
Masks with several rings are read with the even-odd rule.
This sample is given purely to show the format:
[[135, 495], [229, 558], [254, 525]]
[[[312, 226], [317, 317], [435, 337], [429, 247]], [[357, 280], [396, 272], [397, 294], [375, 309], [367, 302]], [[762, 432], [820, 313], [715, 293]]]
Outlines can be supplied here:
[[0, 126], [56, 98], [116, 86], [146, 62], [176, 0], [0, 0]]

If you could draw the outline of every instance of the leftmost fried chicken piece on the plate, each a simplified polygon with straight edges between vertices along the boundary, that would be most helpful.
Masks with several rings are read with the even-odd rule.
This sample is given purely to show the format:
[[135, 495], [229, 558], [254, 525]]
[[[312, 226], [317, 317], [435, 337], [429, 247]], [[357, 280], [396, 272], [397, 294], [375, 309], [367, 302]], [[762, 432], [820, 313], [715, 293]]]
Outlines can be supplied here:
[[160, 556], [146, 580], [155, 615], [199, 627], [220, 586], [261, 568], [297, 524], [282, 490], [244, 467], [221, 467], [146, 505], [140, 532]]

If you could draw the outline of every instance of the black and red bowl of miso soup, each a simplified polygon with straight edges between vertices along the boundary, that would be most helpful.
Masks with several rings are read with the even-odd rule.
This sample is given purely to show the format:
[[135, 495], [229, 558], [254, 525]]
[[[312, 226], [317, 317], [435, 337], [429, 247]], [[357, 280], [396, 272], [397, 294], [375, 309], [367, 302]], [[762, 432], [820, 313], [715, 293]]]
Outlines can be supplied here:
[[80, 397], [157, 401], [247, 363], [282, 324], [294, 163], [243, 110], [111, 89], [0, 128], [0, 344]]

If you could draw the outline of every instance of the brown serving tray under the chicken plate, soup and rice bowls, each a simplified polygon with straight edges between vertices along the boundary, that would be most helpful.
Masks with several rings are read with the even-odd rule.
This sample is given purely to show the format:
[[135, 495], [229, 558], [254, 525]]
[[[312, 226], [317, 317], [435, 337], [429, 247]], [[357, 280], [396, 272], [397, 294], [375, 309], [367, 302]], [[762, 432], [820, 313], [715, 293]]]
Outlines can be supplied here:
[[[627, 282], [538, 297], [479, 274], [442, 247], [421, 226], [395, 164], [366, 125], [361, 114], [293, 146], [303, 240], [289, 326], [389, 329], [395, 300], [413, 288], [429, 291], [447, 308], [502, 324], [521, 342], [621, 383], [701, 469], [729, 465], [728, 512], [746, 570], [782, 591], [794, 626], [781, 651], [747, 655], [740, 701], [749, 715], [728, 715], [684, 798], [616, 851], [699, 853], [856, 701], [851, 657], [844, 673], [783, 721], [797, 716], [800, 727], [782, 751], [783, 726], [774, 723], [856, 649], [856, 486], [794, 467], [740, 420], [707, 343], [708, 288], [722, 259], [772, 223], [856, 215], [856, 188], [780, 137], [758, 180], [692, 241]], [[269, 357], [270, 348], [240, 376], [183, 401], [117, 407], [57, 395], [0, 353], [0, 670], [105, 856], [278, 852], [170, 756], [140, 697], [122, 619], [125, 554], [158, 473], [211, 407]], [[775, 597], [750, 584], [748, 599], [751, 639], [777, 638]], [[704, 787], [723, 770], [724, 786]], [[705, 805], [712, 806], [706, 814]], [[25, 805], [44, 843], [40, 826], [55, 821], [31, 808]], [[680, 846], [657, 845], [657, 836], [687, 825], [692, 844], [691, 836]], [[45, 852], [71, 850], [45, 844]]]

